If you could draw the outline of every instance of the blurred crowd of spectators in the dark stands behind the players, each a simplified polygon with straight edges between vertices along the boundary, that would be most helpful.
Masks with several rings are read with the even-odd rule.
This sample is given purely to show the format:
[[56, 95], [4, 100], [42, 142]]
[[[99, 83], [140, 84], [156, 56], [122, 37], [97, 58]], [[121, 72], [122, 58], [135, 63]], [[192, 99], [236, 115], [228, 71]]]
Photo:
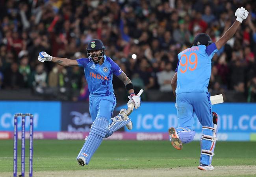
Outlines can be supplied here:
[[[171, 93], [177, 54], [191, 47], [198, 33], [217, 41], [241, 6], [249, 17], [214, 55], [208, 88], [255, 102], [254, 0], [0, 0], [0, 89], [26, 88], [63, 100], [87, 100], [83, 68], [40, 63], [37, 57], [41, 51], [70, 59], [87, 57], [87, 43], [101, 39], [106, 55], [136, 90]], [[117, 77], [113, 87], [125, 90]], [[80, 94], [74, 97], [73, 90]]]

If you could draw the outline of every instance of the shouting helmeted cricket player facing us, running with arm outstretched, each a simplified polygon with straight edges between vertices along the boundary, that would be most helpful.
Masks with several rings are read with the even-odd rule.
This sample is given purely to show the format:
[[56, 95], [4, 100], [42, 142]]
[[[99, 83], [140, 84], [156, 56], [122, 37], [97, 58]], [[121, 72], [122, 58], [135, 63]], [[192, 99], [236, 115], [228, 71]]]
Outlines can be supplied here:
[[81, 66], [84, 68], [90, 92], [89, 111], [93, 124], [89, 136], [77, 157], [78, 164], [81, 166], [89, 164], [91, 157], [100, 146], [103, 138], [111, 136], [113, 132], [124, 125], [128, 129], [132, 129], [132, 122], [126, 115], [126, 109], [121, 109], [119, 115], [111, 118], [116, 105], [112, 85], [113, 74], [124, 82], [130, 94], [128, 105], [133, 103], [135, 109], [141, 105], [141, 99], [134, 94], [130, 79], [111, 58], [105, 55], [105, 47], [102, 41], [99, 39], [90, 41], [87, 48], [87, 56], [88, 58], [71, 60], [52, 57], [46, 52], [40, 52], [38, 55], [40, 62], [52, 61], [62, 66]]

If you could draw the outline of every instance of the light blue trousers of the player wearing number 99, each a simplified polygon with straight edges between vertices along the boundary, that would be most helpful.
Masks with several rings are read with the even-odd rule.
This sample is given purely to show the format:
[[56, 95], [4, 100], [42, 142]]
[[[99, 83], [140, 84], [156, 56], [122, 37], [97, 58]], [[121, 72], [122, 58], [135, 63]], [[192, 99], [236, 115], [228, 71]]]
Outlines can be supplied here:
[[[196, 114], [202, 126], [213, 127], [212, 107], [209, 92], [186, 92], [176, 96], [176, 108], [178, 117], [178, 127], [191, 129], [194, 124], [194, 114]], [[212, 131], [205, 131], [205, 135], [211, 135]], [[209, 150], [211, 142], [202, 140], [201, 149]], [[210, 156], [201, 155], [200, 163], [208, 165]]]

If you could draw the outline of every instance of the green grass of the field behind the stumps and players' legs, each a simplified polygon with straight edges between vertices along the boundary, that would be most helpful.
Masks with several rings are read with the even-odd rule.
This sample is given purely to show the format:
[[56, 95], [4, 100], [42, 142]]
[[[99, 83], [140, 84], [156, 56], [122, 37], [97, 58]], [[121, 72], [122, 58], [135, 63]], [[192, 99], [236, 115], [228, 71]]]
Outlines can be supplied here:
[[[105, 140], [86, 167], [76, 162], [83, 140], [34, 140], [34, 171], [156, 169], [197, 167], [200, 142], [185, 144], [181, 151], [169, 141]], [[28, 171], [26, 140], [26, 171]], [[18, 142], [20, 171], [20, 140]], [[256, 142], [217, 142], [214, 166], [256, 165]], [[0, 174], [13, 171], [13, 140], [0, 140]], [[11, 173], [10, 173], [11, 174]], [[1, 176], [1, 175], [0, 175]]]

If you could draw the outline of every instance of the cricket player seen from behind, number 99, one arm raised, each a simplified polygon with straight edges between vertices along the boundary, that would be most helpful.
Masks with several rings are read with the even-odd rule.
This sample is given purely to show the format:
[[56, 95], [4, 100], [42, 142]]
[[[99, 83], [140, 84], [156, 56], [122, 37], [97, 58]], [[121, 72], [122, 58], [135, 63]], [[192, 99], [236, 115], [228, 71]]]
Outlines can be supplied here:
[[248, 16], [243, 7], [236, 10], [236, 21], [215, 43], [210, 36], [201, 33], [193, 42], [193, 47], [178, 54], [178, 66], [172, 79], [174, 95], [176, 94], [176, 109], [178, 128], [169, 129], [171, 144], [182, 149], [183, 143], [191, 142], [195, 131], [191, 130], [194, 123], [194, 113], [202, 124], [200, 170], [213, 170], [211, 159], [217, 131], [217, 114], [212, 112], [208, 84], [211, 76], [211, 58], [233, 37], [237, 28]]

